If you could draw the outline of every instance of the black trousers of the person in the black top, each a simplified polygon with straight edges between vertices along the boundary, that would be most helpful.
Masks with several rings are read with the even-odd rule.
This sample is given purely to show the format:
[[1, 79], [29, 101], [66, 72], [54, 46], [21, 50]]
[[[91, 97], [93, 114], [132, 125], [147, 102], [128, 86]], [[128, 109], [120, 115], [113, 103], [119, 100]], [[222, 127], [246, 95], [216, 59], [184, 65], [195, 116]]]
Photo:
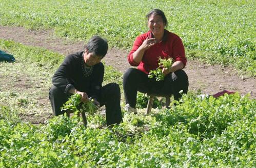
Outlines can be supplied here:
[[[90, 97], [90, 95], [88, 96]], [[55, 116], [64, 114], [64, 111], [61, 111], [61, 107], [68, 101], [69, 97], [69, 95], [65, 94], [54, 85], [49, 89], [49, 100]], [[101, 88], [100, 97], [97, 101], [101, 106], [105, 105], [106, 107], [106, 120], [108, 126], [122, 122], [120, 99], [121, 92], [118, 84], [109, 83]]]

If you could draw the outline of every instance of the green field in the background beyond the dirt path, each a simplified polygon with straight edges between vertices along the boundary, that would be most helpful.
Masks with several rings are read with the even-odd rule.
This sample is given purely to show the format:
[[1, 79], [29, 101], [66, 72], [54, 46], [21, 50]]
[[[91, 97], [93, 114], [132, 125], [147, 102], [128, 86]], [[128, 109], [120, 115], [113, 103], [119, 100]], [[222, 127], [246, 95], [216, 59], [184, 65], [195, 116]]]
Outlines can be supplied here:
[[135, 37], [148, 30], [147, 12], [159, 8], [169, 21], [167, 29], [182, 38], [189, 58], [256, 75], [253, 0], [1, 0], [0, 8], [0, 25], [54, 29], [62, 37], [83, 40], [98, 34], [123, 49], [130, 49]]

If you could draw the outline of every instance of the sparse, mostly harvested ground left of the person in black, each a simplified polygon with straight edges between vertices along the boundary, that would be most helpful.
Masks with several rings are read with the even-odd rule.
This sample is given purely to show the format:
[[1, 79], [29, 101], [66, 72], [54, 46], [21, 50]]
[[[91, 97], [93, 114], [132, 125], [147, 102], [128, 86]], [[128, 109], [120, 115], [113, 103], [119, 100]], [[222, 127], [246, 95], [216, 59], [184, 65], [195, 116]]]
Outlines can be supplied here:
[[33, 118], [40, 118], [38, 115], [41, 115], [39, 120], [49, 118], [52, 109], [48, 103], [48, 90], [52, 85], [52, 75], [64, 56], [1, 39], [0, 48], [16, 59], [13, 63], [0, 62], [0, 104], [3, 103], [17, 115]]

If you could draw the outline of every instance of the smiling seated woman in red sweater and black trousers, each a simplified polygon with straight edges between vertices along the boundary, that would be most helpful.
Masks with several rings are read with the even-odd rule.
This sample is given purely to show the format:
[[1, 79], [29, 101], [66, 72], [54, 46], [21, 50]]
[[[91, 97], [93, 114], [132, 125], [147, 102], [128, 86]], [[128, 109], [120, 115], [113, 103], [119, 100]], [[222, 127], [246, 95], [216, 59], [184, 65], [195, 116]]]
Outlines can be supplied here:
[[[187, 62], [182, 40], [167, 31], [168, 21], [163, 11], [151, 10], [146, 18], [149, 31], [137, 37], [128, 55], [130, 65], [123, 77], [126, 109], [136, 113], [137, 91], [150, 94], [173, 94], [175, 100], [181, 98], [180, 91], [188, 91], [188, 77], [182, 70]], [[163, 68], [164, 81], [149, 79], [150, 70], [159, 66], [159, 58], [172, 58], [170, 68]]]

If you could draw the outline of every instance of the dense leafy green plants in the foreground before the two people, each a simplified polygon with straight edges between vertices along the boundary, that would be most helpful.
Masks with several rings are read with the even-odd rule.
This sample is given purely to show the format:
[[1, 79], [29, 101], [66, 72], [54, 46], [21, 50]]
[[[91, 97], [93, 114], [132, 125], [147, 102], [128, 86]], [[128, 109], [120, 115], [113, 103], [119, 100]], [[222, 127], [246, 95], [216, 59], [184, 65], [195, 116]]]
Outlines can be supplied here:
[[0, 165], [254, 167], [255, 100], [187, 94], [181, 102], [147, 116], [125, 113], [112, 130], [85, 128], [65, 115], [38, 126], [0, 119]]

